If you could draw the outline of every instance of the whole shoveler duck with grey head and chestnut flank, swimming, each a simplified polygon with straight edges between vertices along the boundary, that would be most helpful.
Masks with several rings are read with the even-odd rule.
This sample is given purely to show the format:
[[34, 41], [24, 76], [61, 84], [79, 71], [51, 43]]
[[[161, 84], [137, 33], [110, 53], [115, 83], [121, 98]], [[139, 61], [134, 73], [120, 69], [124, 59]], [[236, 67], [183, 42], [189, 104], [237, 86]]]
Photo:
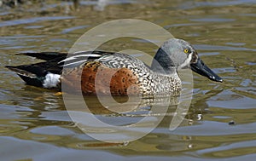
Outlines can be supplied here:
[[[213, 81], [222, 78], [212, 72], [186, 41], [171, 38], [158, 49], [151, 66], [131, 55], [105, 51], [24, 53], [44, 62], [6, 66], [27, 84], [44, 88], [82, 89], [84, 95], [172, 95], [181, 90], [177, 70], [190, 67]], [[79, 70], [82, 70], [79, 75]], [[79, 79], [80, 81], [75, 81]], [[80, 83], [78, 85], [78, 83]]]

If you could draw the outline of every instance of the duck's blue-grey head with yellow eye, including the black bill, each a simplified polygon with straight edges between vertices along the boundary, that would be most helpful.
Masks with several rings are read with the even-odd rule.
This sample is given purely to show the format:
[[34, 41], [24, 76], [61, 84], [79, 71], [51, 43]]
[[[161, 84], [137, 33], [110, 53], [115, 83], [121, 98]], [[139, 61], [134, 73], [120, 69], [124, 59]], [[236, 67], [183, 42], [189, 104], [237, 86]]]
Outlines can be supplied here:
[[166, 74], [172, 74], [172, 72], [177, 72], [178, 69], [187, 67], [213, 81], [223, 81], [205, 65], [195, 48], [182, 39], [171, 38], [166, 41], [154, 55], [151, 66], [155, 72], [165, 72]]

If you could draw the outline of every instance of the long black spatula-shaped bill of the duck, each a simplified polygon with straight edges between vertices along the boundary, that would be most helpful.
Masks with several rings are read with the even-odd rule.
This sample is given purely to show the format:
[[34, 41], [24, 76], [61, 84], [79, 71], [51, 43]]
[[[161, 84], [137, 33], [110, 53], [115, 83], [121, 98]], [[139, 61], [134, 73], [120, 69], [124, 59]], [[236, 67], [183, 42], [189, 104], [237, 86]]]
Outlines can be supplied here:
[[216, 81], [216, 82], [223, 81], [222, 78], [218, 77], [217, 74], [212, 72], [212, 70], [207, 65], [205, 65], [205, 63], [199, 58], [196, 63], [191, 63], [190, 66], [192, 71], [197, 72], [198, 74], [205, 76], [211, 79], [212, 81]]

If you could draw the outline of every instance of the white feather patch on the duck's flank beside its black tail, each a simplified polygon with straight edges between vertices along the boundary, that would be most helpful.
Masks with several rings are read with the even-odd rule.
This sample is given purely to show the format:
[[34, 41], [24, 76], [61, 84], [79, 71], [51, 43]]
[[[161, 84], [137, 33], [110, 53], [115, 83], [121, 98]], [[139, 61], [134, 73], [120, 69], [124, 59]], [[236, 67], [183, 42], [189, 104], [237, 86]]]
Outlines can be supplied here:
[[61, 82], [60, 78], [61, 78], [60, 74], [54, 74], [54, 73], [48, 72], [44, 78], [44, 83], [43, 83], [44, 88], [56, 87], [57, 84]]

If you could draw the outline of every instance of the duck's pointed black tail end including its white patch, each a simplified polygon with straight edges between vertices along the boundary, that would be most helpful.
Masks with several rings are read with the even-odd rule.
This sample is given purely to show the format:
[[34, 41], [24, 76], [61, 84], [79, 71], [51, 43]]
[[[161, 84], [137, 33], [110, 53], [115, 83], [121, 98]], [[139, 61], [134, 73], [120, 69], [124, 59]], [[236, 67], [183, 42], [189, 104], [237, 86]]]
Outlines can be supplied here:
[[5, 66], [9, 70], [18, 74], [27, 84], [44, 87], [55, 88], [60, 83], [62, 63], [59, 62], [67, 57], [67, 54], [56, 52], [41, 53], [20, 53], [18, 55], [28, 55], [44, 62], [23, 65], [23, 66]]

